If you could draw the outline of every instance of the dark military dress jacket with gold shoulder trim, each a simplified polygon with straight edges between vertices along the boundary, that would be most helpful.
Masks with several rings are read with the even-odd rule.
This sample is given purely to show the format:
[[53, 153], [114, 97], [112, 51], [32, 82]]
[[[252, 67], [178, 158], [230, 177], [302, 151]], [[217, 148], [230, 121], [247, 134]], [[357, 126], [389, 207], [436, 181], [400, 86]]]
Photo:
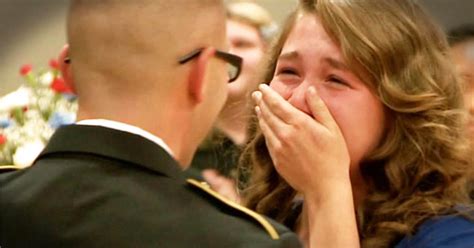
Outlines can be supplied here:
[[0, 175], [0, 246], [301, 247], [185, 175], [141, 136], [60, 128], [32, 167]]

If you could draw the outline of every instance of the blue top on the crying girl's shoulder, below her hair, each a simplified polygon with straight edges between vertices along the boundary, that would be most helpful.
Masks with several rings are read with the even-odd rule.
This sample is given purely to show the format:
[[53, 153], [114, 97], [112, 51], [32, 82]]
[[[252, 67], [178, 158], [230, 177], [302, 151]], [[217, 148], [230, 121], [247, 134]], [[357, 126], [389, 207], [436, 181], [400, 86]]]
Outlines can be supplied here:
[[428, 220], [418, 232], [405, 237], [395, 248], [473, 248], [474, 221], [462, 216], [442, 216]]

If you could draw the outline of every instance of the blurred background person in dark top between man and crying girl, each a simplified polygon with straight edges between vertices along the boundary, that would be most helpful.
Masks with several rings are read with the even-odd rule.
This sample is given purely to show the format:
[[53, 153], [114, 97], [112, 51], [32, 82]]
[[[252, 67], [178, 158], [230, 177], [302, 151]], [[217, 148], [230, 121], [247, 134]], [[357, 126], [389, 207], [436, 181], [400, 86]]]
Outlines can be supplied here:
[[228, 3], [227, 40], [230, 53], [243, 58], [239, 78], [229, 84], [229, 96], [214, 130], [199, 147], [192, 168], [221, 194], [237, 200], [234, 179], [241, 148], [248, 140], [250, 93], [260, 83], [261, 62], [277, 31], [271, 15], [252, 1]]

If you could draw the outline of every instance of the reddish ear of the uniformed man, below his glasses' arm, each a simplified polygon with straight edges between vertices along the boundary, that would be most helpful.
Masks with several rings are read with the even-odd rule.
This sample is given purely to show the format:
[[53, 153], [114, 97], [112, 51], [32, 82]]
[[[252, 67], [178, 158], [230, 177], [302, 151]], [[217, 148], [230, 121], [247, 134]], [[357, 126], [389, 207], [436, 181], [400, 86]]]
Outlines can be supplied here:
[[214, 48], [206, 48], [196, 58], [191, 65], [189, 72], [188, 90], [189, 95], [196, 103], [200, 103], [203, 99], [204, 81], [209, 60], [214, 56], [216, 50]]

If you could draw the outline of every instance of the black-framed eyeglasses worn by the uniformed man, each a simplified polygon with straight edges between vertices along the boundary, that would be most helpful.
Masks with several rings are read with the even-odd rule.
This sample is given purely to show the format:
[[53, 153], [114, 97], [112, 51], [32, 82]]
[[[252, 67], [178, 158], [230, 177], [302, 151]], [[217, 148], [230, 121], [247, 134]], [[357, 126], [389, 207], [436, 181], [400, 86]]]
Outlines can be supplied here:
[[[204, 48], [199, 48], [190, 52], [189, 54], [184, 55], [178, 60], [179, 64], [181, 65], [185, 64], [188, 61], [198, 57], [203, 50]], [[229, 65], [229, 68], [227, 70], [227, 73], [229, 74], [228, 82], [229, 83], [234, 82], [240, 75], [240, 71], [242, 68], [242, 58], [237, 55], [226, 53], [219, 50], [216, 50], [215, 55], [217, 58], [220, 58], [224, 60], [225, 62], [227, 62], [227, 64]]]

